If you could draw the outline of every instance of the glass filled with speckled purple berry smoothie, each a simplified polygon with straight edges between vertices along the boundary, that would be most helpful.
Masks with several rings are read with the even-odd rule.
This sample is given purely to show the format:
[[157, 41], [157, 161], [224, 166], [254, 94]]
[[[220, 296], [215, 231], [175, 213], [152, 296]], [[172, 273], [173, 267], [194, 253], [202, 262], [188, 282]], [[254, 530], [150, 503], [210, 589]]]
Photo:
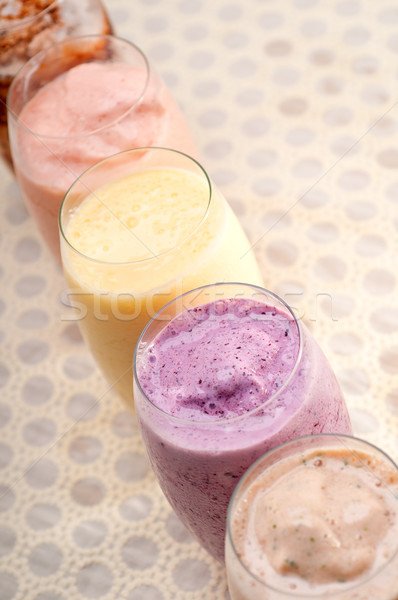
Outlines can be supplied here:
[[228, 503], [250, 465], [300, 435], [352, 431], [308, 329], [275, 294], [241, 283], [198, 288], [153, 317], [134, 400], [163, 492], [221, 562]]

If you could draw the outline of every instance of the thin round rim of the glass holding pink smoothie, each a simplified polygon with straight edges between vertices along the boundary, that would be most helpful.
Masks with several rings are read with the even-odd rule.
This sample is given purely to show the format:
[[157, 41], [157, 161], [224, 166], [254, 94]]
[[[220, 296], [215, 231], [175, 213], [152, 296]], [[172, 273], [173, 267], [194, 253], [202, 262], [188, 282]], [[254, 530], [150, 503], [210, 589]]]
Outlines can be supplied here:
[[[55, 2], [58, 2], [58, 1], [59, 0], [55, 0]], [[126, 111], [124, 111], [121, 115], [116, 117], [116, 119], [113, 119], [113, 121], [110, 121], [109, 123], [105, 123], [101, 127], [97, 127], [96, 129], [92, 129], [90, 131], [84, 131], [81, 133], [74, 133], [74, 134], [70, 134], [70, 135], [48, 135], [48, 134], [42, 134], [37, 131], [34, 131], [33, 129], [30, 129], [30, 127], [28, 127], [27, 125], [24, 124], [23, 121], [21, 121], [20, 114], [17, 115], [14, 112], [14, 110], [12, 109], [12, 107], [10, 106], [11, 96], [14, 93], [14, 88], [16, 87], [18, 80], [24, 76], [24, 71], [26, 70], [27, 72], [29, 72], [31, 65], [34, 64], [35, 62], [39, 65], [41, 63], [41, 61], [43, 60], [44, 56], [48, 52], [51, 52], [54, 48], [57, 48], [57, 47], [59, 48], [61, 46], [71, 44], [71, 43], [76, 43], [76, 42], [90, 41], [93, 39], [110, 40], [111, 43], [117, 43], [117, 44], [121, 44], [121, 45], [125, 45], [125, 46], [130, 46], [131, 49], [135, 50], [140, 55], [140, 57], [142, 58], [143, 63], [144, 63], [146, 77], [145, 77], [145, 82], [144, 82], [143, 88], [141, 90], [141, 93], [139, 94], [137, 99], [133, 102], [133, 104]], [[85, 64], [87, 62], [101, 62], [103, 64], [106, 64], [105, 61], [96, 61], [96, 60], [83, 61], [81, 63], [78, 63], [77, 65], [74, 65], [71, 68], [77, 67], [77, 66], [79, 66], [81, 64]], [[128, 65], [128, 63], [122, 63], [122, 64]], [[57, 79], [57, 77], [64, 75], [64, 73], [67, 73], [69, 70], [71, 70], [71, 69], [67, 69], [63, 73], [60, 73], [59, 75], [54, 77], [54, 79], [52, 79], [45, 85], [49, 85], [50, 83], [55, 81], [55, 79]], [[78, 139], [78, 138], [85, 138], [85, 137], [88, 138], [92, 135], [97, 135], [99, 133], [102, 133], [103, 131], [106, 131], [107, 129], [110, 129], [111, 127], [114, 127], [117, 123], [119, 123], [120, 121], [125, 119], [127, 117], [127, 115], [129, 115], [131, 112], [133, 112], [136, 109], [136, 107], [141, 103], [143, 97], [145, 96], [145, 93], [149, 86], [149, 81], [150, 81], [151, 75], [152, 75], [151, 65], [149, 63], [148, 58], [144, 54], [144, 52], [136, 44], [134, 44], [130, 40], [127, 40], [126, 38], [122, 38], [122, 37], [119, 37], [119, 36], [116, 36], [113, 34], [107, 34], [107, 33], [93, 33], [93, 34], [88, 34], [88, 35], [70, 36], [70, 37], [64, 38], [61, 41], [55, 42], [55, 43], [51, 44], [50, 46], [47, 46], [43, 50], [40, 50], [39, 52], [34, 54], [28, 61], [26, 61], [18, 69], [18, 71], [15, 73], [15, 75], [13, 77], [13, 80], [12, 80], [11, 85], [7, 92], [7, 99], [6, 99], [7, 113], [10, 116], [10, 118], [12, 118], [13, 121], [15, 121], [16, 126], [18, 126], [23, 131], [30, 133], [31, 135], [33, 135], [36, 138], [41, 139], [41, 140], [74, 140], [74, 139]], [[43, 86], [43, 88], [44, 87], [45, 86]], [[40, 90], [43, 88], [40, 88]], [[36, 94], [40, 93], [40, 90], [38, 90], [38, 92], [36, 92]], [[36, 94], [35, 94], [35, 96], [36, 96]], [[33, 98], [35, 96], [33, 96]]]

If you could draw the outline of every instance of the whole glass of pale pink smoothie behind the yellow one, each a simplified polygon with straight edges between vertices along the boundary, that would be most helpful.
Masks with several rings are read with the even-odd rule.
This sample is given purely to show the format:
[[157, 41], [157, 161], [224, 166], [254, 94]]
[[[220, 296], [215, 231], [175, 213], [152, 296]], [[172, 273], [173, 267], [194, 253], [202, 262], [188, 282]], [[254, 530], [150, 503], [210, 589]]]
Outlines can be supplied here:
[[70, 38], [34, 56], [11, 85], [8, 117], [27, 208], [58, 259], [59, 207], [81, 173], [137, 147], [196, 155], [163, 81], [139, 48], [114, 36]]

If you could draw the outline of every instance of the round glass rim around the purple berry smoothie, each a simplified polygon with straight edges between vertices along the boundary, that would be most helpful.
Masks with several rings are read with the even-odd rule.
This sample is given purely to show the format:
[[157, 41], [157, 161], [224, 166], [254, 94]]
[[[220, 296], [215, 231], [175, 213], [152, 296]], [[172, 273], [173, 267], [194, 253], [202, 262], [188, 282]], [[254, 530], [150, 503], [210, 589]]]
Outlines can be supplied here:
[[[280, 388], [278, 388], [278, 390], [274, 394], [272, 394], [269, 398], [267, 398], [267, 400], [265, 400], [265, 402], [263, 402], [256, 408], [253, 408], [252, 410], [250, 410], [242, 415], [236, 415], [234, 417], [229, 417], [226, 419], [215, 419], [214, 421], [197, 421], [197, 420], [186, 419], [186, 418], [181, 418], [181, 417], [178, 417], [175, 415], [171, 415], [170, 413], [168, 413], [165, 410], [156, 406], [156, 404], [154, 404], [152, 402], [152, 400], [150, 398], [148, 398], [148, 396], [146, 395], [146, 393], [144, 392], [144, 390], [142, 389], [142, 386], [140, 384], [140, 381], [138, 378], [138, 373], [137, 373], [137, 356], [138, 356], [138, 351], [139, 351], [140, 345], [142, 343], [142, 339], [143, 339], [144, 335], [148, 332], [148, 330], [152, 327], [152, 324], [156, 322], [158, 315], [160, 315], [163, 311], [165, 311], [169, 306], [171, 306], [174, 303], [177, 303], [178, 301], [182, 300], [184, 297], [186, 297], [190, 294], [197, 294], [199, 291], [206, 290], [208, 288], [221, 287], [221, 286], [240, 286], [241, 288], [249, 288], [249, 289], [253, 289], [253, 290], [258, 290], [259, 292], [261, 292], [262, 295], [271, 296], [272, 298], [277, 300], [280, 304], [282, 304], [287, 309], [288, 315], [290, 315], [293, 318], [293, 322], [295, 323], [295, 325], [297, 327], [297, 333], [298, 333], [299, 349], [298, 349], [295, 363], [289, 373], [288, 378], [284, 381], [283, 385]], [[181, 314], [181, 313], [179, 313], [179, 314]], [[176, 316], [178, 316], [178, 315], [176, 315]], [[219, 282], [219, 283], [210, 283], [207, 285], [203, 285], [203, 286], [194, 288], [193, 290], [184, 292], [183, 294], [180, 294], [176, 298], [173, 298], [173, 300], [170, 300], [169, 302], [167, 302], [167, 304], [165, 304], [160, 310], [158, 310], [156, 312], [156, 314], [150, 319], [150, 321], [146, 324], [146, 326], [142, 330], [141, 335], [138, 338], [136, 347], [134, 349], [133, 378], [138, 387], [139, 392], [142, 394], [143, 398], [145, 398], [145, 401], [151, 406], [151, 409], [155, 410], [161, 416], [166, 417], [167, 419], [171, 420], [173, 423], [186, 424], [186, 425], [190, 425], [190, 426], [199, 425], [201, 427], [206, 427], [206, 428], [217, 428], [220, 426], [229, 425], [231, 423], [238, 423], [238, 422], [241, 422], [241, 421], [251, 418], [256, 412], [264, 409], [264, 407], [267, 406], [267, 404], [272, 402], [282, 392], [284, 392], [285, 389], [290, 384], [290, 382], [292, 381], [293, 377], [295, 376], [295, 374], [299, 368], [302, 354], [303, 354], [303, 335], [302, 335], [302, 328], [301, 328], [300, 321], [299, 321], [299, 319], [297, 319], [296, 315], [294, 314], [293, 309], [287, 304], [287, 302], [285, 302], [285, 300], [283, 300], [283, 298], [281, 298], [274, 292], [271, 292], [267, 288], [261, 287], [259, 285], [251, 284], [251, 283], [242, 283], [239, 281], [225, 281], [225, 282]]]

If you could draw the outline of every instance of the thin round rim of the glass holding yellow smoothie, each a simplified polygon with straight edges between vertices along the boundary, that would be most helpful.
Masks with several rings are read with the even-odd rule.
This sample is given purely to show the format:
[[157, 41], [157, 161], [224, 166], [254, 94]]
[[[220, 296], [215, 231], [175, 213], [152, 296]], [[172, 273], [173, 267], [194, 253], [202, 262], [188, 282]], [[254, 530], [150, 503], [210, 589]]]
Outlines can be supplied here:
[[[200, 221], [196, 224], [196, 226], [193, 228], [193, 230], [190, 232], [190, 234], [185, 237], [183, 240], [181, 240], [180, 242], [178, 242], [178, 244], [174, 245], [172, 248], [168, 248], [167, 250], [165, 250], [164, 252], [161, 252], [159, 254], [153, 255], [153, 256], [149, 256], [147, 258], [141, 258], [141, 259], [137, 259], [137, 260], [127, 260], [127, 261], [105, 261], [105, 260], [100, 260], [98, 258], [94, 258], [92, 256], [87, 256], [86, 254], [84, 254], [83, 252], [80, 252], [80, 250], [78, 250], [77, 248], [75, 248], [73, 246], [73, 244], [69, 241], [66, 232], [64, 230], [64, 227], [62, 225], [62, 215], [63, 215], [63, 209], [64, 206], [69, 198], [69, 195], [71, 193], [71, 191], [74, 189], [74, 187], [78, 184], [81, 183], [81, 180], [83, 177], [85, 177], [86, 175], [88, 175], [91, 171], [93, 171], [94, 169], [100, 168], [101, 165], [103, 165], [104, 163], [107, 163], [110, 160], [113, 160], [115, 158], [117, 158], [118, 156], [123, 156], [123, 155], [128, 155], [128, 154], [134, 154], [134, 153], [140, 153], [140, 152], [151, 152], [151, 151], [157, 151], [157, 152], [173, 152], [174, 154], [178, 154], [186, 159], [188, 159], [189, 161], [191, 161], [192, 163], [195, 163], [195, 165], [197, 165], [201, 171], [201, 173], [204, 175], [204, 180], [208, 186], [208, 200], [207, 200], [207, 204], [206, 204], [206, 209], [204, 211], [204, 214], [202, 216], [202, 218], [200, 219]], [[148, 170], [155, 170], [155, 169], [167, 169], [169, 167], [149, 167], [148, 169], [145, 169], [146, 171]], [[171, 167], [172, 168], [172, 167]], [[141, 169], [142, 171], [143, 169]], [[137, 171], [140, 172], [140, 171]], [[134, 172], [133, 172], [134, 173]], [[128, 175], [127, 175], [128, 176]], [[111, 180], [111, 181], [115, 181], [115, 180]], [[97, 188], [98, 189], [98, 188]], [[91, 194], [95, 194], [95, 190], [90, 190], [87, 189], [87, 196], [91, 195]], [[85, 260], [88, 260], [94, 264], [100, 264], [100, 265], [104, 265], [107, 267], [111, 267], [111, 266], [120, 266], [120, 267], [127, 267], [129, 265], [138, 265], [138, 264], [144, 264], [144, 263], [149, 263], [150, 261], [156, 260], [158, 258], [162, 258], [168, 254], [172, 254], [177, 248], [183, 246], [184, 244], [186, 244], [191, 237], [193, 237], [195, 235], [195, 233], [198, 231], [198, 229], [202, 226], [202, 224], [206, 221], [208, 215], [209, 215], [209, 211], [210, 211], [210, 206], [211, 206], [211, 202], [212, 202], [212, 197], [213, 197], [213, 186], [210, 180], [209, 175], [207, 174], [206, 169], [196, 160], [196, 158], [193, 158], [192, 156], [189, 156], [188, 154], [185, 154], [185, 152], [181, 152], [180, 150], [175, 150], [174, 148], [165, 148], [165, 147], [161, 147], [161, 146], [145, 146], [143, 148], [131, 148], [129, 150], [122, 150], [121, 152], [116, 152], [115, 154], [111, 154], [110, 156], [106, 156], [105, 158], [101, 159], [100, 161], [96, 162], [94, 165], [91, 165], [91, 167], [89, 167], [88, 169], [86, 169], [85, 171], [83, 171], [83, 173], [81, 173], [79, 175], [79, 177], [77, 177], [77, 179], [75, 179], [75, 181], [69, 186], [69, 188], [67, 189], [60, 208], [59, 208], [59, 212], [58, 212], [58, 226], [59, 226], [59, 231], [61, 234], [61, 238], [66, 242], [66, 244], [68, 245], [68, 247], [78, 256], [84, 258]]]

